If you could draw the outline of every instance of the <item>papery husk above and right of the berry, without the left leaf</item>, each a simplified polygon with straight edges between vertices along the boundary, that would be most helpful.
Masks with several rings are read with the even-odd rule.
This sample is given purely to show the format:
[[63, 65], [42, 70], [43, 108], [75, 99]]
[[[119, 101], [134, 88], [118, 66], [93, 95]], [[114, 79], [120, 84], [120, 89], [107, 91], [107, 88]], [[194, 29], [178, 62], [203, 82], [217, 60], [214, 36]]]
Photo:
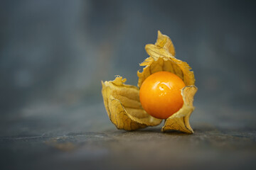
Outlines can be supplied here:
[[156, 43], [154, 45], [146, 45], [145, 50], [150, 57], [140, 64], [140, 66], [145, 66], [143, 71], [137, 72], [139, 87], [142, 86], [143, 81], [151, 74], [162, 71], [176, 74], [186, 84], [186, 87], [181, 91], [184, 100], [183, 107], [166, 119], [162, 132], [179, 130], [181, 132], [193, 133], [189, 125], [189, 117], [194, 109], [193, 96], [196, 94], [197, 88], [194, 86], [195, 78], [191, 67], [186, 62], [174, 57], [175, 49], [171, 39], [166, 35], [162, 35], [160, 31], [158, 31]]

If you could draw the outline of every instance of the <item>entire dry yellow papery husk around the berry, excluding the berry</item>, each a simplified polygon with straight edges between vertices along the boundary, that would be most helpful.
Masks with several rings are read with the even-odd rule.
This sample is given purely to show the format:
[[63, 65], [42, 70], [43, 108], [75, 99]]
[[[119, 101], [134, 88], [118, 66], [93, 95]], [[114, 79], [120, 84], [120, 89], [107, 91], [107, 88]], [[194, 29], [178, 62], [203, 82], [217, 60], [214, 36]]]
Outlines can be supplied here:
[[[146, 52], [150, 57], [146, 58], [140, 66], [144, 66], [142, 72], [137, 72], [139, 77], [138, 87], [143, 81], [155, 72], [172, 72], [180, 77], [186, 86], [181, 90], [183, 96], [182, 108], [166, 119], [162, 132], [179, 130], [193, 133], [189, 124], [189, 117], [193, 112], [193, 96], [197, 88], [194, 86], [195, 78], [191, 67], [186, 62], [176, 59], [174, 45], [171, 39], [158, 32], [156, 43], [146, 45]], [[153, 118], [146, 113], [139, 101], [139, 88], [124, 84], [126, 79], [117, 76], [114, 81], [102, 81], [102, 96], [105, 108], [110, 120], [118, 129], [137, 130], [147, 126], [156, 126], [160, 119]]]

